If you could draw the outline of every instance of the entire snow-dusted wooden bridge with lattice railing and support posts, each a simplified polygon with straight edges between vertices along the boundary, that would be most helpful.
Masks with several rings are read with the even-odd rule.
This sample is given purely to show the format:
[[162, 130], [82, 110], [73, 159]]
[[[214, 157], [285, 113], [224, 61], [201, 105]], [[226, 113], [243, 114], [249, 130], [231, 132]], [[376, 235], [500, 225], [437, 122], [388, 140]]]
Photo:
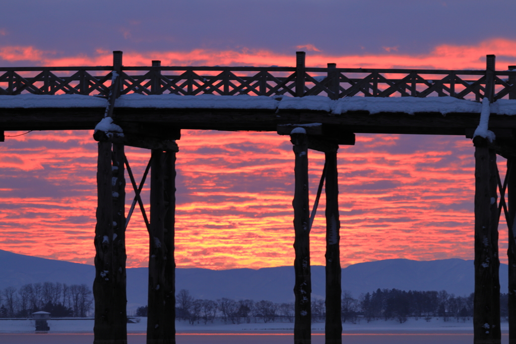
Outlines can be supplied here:
[[[475, 145], [474, 342], [501, 338], [498, 221], [509, 227], [509, 337], [516, 343], [516, 71], [296, 67], [0, 68], [0, 130], [94, 129], [99, 141], [94, 343], [126, 343], [125, 228], [139, 204], [149, 231], [147, 343], [175, 343], [175, 153], [181, 129], [290, 135], [295, 153], [296, 344], [310, 343], [308, 149], [325, 152], [326, 343], [342, 342], [337, 150], [357, 133], [463, 135]], [[480, 103], [480, 101], [482, 101]], [[2, 135], [3, 136], [3, 135]], [[124, 145], [151, 150], [138, 185]], [[496, 155], [507, 158], [501, 181]], [[127, 216], [125, 170], [136, 193]], [[148, 219], [140, 198], [151, 173]], [[505, 193], [508, 193], [508, 202]], [[499, 195], [498, 195], [499, 194]], [[346, 243], [343, 243], [343, 248]]]

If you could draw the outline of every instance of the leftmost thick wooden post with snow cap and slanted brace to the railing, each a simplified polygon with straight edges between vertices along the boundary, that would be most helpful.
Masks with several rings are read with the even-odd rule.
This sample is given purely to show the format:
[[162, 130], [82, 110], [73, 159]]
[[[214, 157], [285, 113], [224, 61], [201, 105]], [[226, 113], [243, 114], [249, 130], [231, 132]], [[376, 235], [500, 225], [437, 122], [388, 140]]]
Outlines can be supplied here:
[[114, 136], [123, 136], [121, 128], [112, 123], [111, 117], [119, 94], [117, 85], [121, 67], [122, 52], [113, 52], [114, 85], [105, 118], [95, 127], [93, 134], [99, 141], [94, 240], [94, 344], [127, 343], [124, 145], [111, 142]]

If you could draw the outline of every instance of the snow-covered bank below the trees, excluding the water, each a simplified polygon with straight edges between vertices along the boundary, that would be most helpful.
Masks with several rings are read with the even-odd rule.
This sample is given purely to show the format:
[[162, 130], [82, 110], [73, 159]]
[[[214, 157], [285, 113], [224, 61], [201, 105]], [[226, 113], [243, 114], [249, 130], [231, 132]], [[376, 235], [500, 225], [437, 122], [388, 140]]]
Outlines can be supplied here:
[[[138, 323], [127, 324], [128, 333], [145, 333], [147, 329], [147, 318], [139, 318]], [[92, 333], [93, 320], [50, 320], [49, 333]], [[176, 321], [178, 334], [206, 334], [206, 333], [284, 333], [291, 334], [294, 331], [294, 324], [289, 322], [268, 322], [268, 323], [240, 323], [224, 324], [223, 322], [208, 322], [191, 325], [187, 321]], [[502, 332], [508, 331], [508, 323], [502, 322]], [[34, 333], [33, 320], [0, 320], [0, 333]], [[324, 322], [312, 324], [313, 333], [324, 333]], [[437, 333], [473, 333], [472, 320], [457, 322], [456, 320], [443, 321], [442, 318], [432, 318], [426, 321], [423, 318], [415, 320], [409, 318], [404, 323], [395, 320], [375, 320], [367, 322], [361, 319], [360, 322], [343, 324], [343, 333], [349, 334], [374, 334], [374, 333], [407, 333], [407, 334], [437, 334]]]

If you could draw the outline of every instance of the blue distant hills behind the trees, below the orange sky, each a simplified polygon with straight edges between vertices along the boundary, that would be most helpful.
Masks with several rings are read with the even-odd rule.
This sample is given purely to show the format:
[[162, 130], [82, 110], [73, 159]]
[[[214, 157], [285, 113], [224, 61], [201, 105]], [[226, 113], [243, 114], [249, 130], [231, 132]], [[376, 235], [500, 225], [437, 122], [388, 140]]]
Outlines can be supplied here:
[[[61, 282], [93, 284], [94, 267], [44, 259], [0, 250], [0, 289], [26, 283]], [[342, 269], [342, 288], [359, 297], [378, 288], [401, 290], [446, 290], [464, 296], [474, 289], [473, 260], [416, 261], [386, 259]], [[502, 292], [507, 290], [507, 265], [500, 267]], [[292, 267], [252, 269], [176, 269], [176, 290], [188, 289], [199, 299], [294, 300]], [[312, 297], [324, 298], [325, 268], [312, 267]], [[147, 304], [147, 268], [127, 269], [128, 309]]]

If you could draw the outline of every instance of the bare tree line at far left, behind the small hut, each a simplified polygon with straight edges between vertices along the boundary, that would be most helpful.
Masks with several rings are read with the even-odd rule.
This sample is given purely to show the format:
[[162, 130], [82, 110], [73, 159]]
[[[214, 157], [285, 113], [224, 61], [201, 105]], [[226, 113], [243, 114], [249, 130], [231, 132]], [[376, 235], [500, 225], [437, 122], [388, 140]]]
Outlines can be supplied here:
[[44, 311], [52, 317], [86, 317], [93, 305], [86, 284], [28, 283], [0, 290], [0, 318], [27, 318]]

